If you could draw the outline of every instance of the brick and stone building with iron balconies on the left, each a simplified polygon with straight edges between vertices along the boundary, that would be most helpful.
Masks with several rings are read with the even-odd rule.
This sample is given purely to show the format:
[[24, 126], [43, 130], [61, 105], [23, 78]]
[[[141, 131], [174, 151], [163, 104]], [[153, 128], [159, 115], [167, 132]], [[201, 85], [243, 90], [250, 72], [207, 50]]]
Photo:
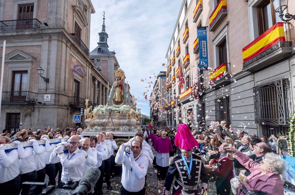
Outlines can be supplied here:
[[88, 49], [94, 12], [90, 0], [0, 0], [1, 129], [75, 126], [84, 99], [106, 103], [112, 84]]

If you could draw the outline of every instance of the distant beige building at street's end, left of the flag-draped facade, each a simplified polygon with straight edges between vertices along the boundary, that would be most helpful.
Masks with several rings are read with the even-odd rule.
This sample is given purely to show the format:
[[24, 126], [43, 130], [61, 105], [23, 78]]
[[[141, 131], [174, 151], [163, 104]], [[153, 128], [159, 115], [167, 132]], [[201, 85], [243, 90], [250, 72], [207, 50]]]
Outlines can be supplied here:
[[150, 121], [153, 126], [166, 126], [166, 72], [161, 71], [150, 95]]

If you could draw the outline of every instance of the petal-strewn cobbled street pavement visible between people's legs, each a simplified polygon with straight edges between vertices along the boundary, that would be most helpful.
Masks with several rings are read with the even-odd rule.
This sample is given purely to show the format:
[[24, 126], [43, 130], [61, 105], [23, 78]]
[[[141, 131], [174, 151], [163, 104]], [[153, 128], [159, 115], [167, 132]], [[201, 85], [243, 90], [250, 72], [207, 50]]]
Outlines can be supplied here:
[[[147, 176], [148, 186], [146, 187], [145, 194], [148, 194], [148, 195], [162, 194], [165, 181], [164, 180], [159, 181], [157, 179], [157, 168], [156, 167], [149, 167], [147, 175], [148, 175]], [[121, 185], [122, 185], [121, 184], [121, 174], [115, 175], [114, 178], [111, 178], [111, 180], [112, 180], [113, 189], [111, 191], [107, 190], [106, 183], [104, 183], [103, 184], [103, 193], [110, 194], [110, 195], [120, 194], [120, 189], [121, 189]], [[48, 176], [46, 175], [45, 182], [47, 183], [48, 181], [49, 181]], [[56, 178], [56, 183], [57, 182], [58, 182], [58, 178]], [[199, 185], [201, 185], [201, 183]], [[173, 185], [171, 186], [170, 194], [172, 194], [172, 188], [173, 188]], [[216, 194], [215, 182], [208, 183], [208, 194], [210, 194], [210, 195]]]

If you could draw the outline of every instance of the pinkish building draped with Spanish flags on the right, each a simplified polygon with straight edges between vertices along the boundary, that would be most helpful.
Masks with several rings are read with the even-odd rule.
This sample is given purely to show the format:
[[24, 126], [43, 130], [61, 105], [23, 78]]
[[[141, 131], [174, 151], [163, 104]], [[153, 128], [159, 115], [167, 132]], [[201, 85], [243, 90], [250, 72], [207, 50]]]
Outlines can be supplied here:
[[[286, 13], [295, 13], [294, 1]], [[196, 129], [225, 120], [249, 134], [286, 131], [294, 111], [295, 21], [278, 15], [269, 0], [183, 0], [166, 54], [167, 102], [176, 102], [167, 125], [192, 117]], [[200, 26], [207, 27], [209, 70], [198, 68]]]

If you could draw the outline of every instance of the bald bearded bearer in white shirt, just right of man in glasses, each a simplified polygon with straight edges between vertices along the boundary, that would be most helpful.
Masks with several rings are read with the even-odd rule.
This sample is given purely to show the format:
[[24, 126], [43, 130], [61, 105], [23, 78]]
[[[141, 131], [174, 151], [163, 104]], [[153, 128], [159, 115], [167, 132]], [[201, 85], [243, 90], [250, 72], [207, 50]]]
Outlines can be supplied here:
[[90, 147], [90, 139], [89, 137], [84, 137], [82, 139], [82, 147], [81, 150], [87, 153], [85, 157], [85, 165], [83, 169], [83, 175], [85, 175], [86, 171], [88, 171], [91, 167], [96, 166], [97, 164], [97, 152], [95, 148]]

